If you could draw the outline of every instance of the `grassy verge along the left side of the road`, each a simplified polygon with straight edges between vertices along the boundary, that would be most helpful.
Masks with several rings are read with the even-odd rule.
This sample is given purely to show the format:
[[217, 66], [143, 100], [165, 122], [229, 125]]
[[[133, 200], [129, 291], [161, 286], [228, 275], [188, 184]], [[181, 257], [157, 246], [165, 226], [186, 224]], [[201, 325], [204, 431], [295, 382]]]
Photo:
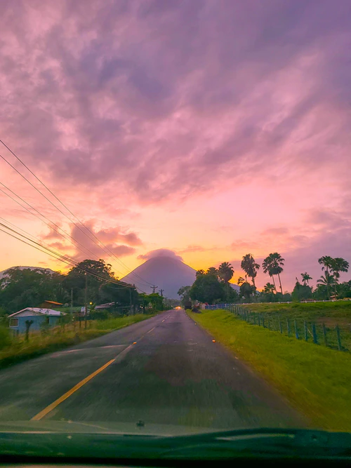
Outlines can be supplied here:
[[80, 342], [91, 340], [105, 335], [119, 328], [124, 328], [132, 323], [149, 319], [152, 315], [137, 314], [116, 319], [102, 321], [88, 321], [87, 328], [84, 322], [79, 328], [72, 325], [51, 328], [47, 334], [40, 332], [30, 333], [29, 341], [25, 336], [12, 337], [7, 328], [0, 328], [0, 368], [10, 366], [13, 363], [32, 359], [49, 352], [58, 351], [65, 347], [77, 345]]

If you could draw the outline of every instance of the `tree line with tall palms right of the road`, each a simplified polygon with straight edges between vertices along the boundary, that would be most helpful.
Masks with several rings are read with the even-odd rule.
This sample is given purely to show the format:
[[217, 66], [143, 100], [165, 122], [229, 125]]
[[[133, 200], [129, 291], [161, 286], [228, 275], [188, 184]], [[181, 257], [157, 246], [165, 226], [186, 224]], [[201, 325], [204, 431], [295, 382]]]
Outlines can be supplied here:
[[[178, 291], [182, 302], [197, 300], [216, 304], [220, 302], [236, 302], [245, 300], [246, 302], [284, 302], [291, 300], [330, 300], [331, 298], [351, 297], [351, 281], [339, 283], [340, 273], [347, 272], [349, 263], [343, 258], [332, 258], [324, 256], [318, 262], [322, 265], [322, 276], [317, 280], [316, 288], [309, 286], [312, 279], [307, 272], [301, 273], [302, 282], [296, 278], [296, 284], [292, 293], [284, 292], [282, 287], [281, 274], [284, 271], [284, 258], [277, 252], [270, 253], [263, 260], [263, 273], [268, 274], [272, 283], [267, 282], [261, 292], [256, 288], [256, 276], [260, 265], [253, 258], [251, 253], [243, 256], [241, 269], [245, 272], [244, 277], [237, 280], [239, 293], [230, 286], [230, 279], [234, 274], [232, 265], [223, 262], [218, 269], [216, 267], [199, 269], [192, 286], [183, 286]], [[279, 290], [277, 289], [279, 284]]]

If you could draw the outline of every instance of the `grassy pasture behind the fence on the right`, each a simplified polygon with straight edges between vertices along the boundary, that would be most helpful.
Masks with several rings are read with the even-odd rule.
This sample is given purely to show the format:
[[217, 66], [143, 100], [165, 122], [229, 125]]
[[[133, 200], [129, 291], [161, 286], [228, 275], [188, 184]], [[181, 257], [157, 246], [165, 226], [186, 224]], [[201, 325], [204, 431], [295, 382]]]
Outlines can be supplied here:
[[329, 347], [337, 348], [338, 340], [336, 326], [340, 328], [340, 339], [344, 349], [351, 351], [351, 301], [336, 302], [307, 302], [291, 304], [249, 304], [243, 305], [251, 312], [263, 314], [267, 323], [270, 318], [270, 326], [279, 330], [279, 317], [284, 333], [286, 319], [291, 319], [291, 334], [293, 333], [293, 321], [296, 320], [300, 337], [304, 335], [304, 322], [307, 323], [309, 339], [312, 340], [311, 323], [315, 323], [318, 342], [324, 345], [323, 323]]

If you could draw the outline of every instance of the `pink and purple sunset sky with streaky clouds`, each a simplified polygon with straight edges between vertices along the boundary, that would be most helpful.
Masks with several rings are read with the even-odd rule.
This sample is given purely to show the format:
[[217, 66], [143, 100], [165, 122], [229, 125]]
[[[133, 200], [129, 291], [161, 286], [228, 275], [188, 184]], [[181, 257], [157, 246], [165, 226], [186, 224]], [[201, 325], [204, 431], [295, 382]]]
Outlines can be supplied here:
[[[279, 252], [284, 290], [315, 284], [322, 255], [351, 262], [349, 0], [4, 0], [0, 15], [0, 138], [64, 204], [0, 145], [0, 222], [119, 277], [159, 249], [231, 262], [234, 281], [243, 255]], [[0, 231], [0, 270], [14, 265], [67, 271]]]

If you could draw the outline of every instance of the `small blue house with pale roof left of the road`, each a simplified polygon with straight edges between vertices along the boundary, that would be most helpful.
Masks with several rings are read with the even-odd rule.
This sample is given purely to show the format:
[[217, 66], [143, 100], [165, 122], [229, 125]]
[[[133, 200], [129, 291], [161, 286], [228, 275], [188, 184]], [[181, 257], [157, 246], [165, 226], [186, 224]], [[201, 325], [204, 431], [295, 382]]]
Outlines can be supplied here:
[[48, 326], [58, 325], [60, 316], [65, 315], [52, 309], [41, 309], [40, 307], [26, 307], [8, 316], [10, 330], [14, 333], [25, 333], [26, 321], [32, 321], [30, 331], [39, 331], [41, 326], [46, 323]]

